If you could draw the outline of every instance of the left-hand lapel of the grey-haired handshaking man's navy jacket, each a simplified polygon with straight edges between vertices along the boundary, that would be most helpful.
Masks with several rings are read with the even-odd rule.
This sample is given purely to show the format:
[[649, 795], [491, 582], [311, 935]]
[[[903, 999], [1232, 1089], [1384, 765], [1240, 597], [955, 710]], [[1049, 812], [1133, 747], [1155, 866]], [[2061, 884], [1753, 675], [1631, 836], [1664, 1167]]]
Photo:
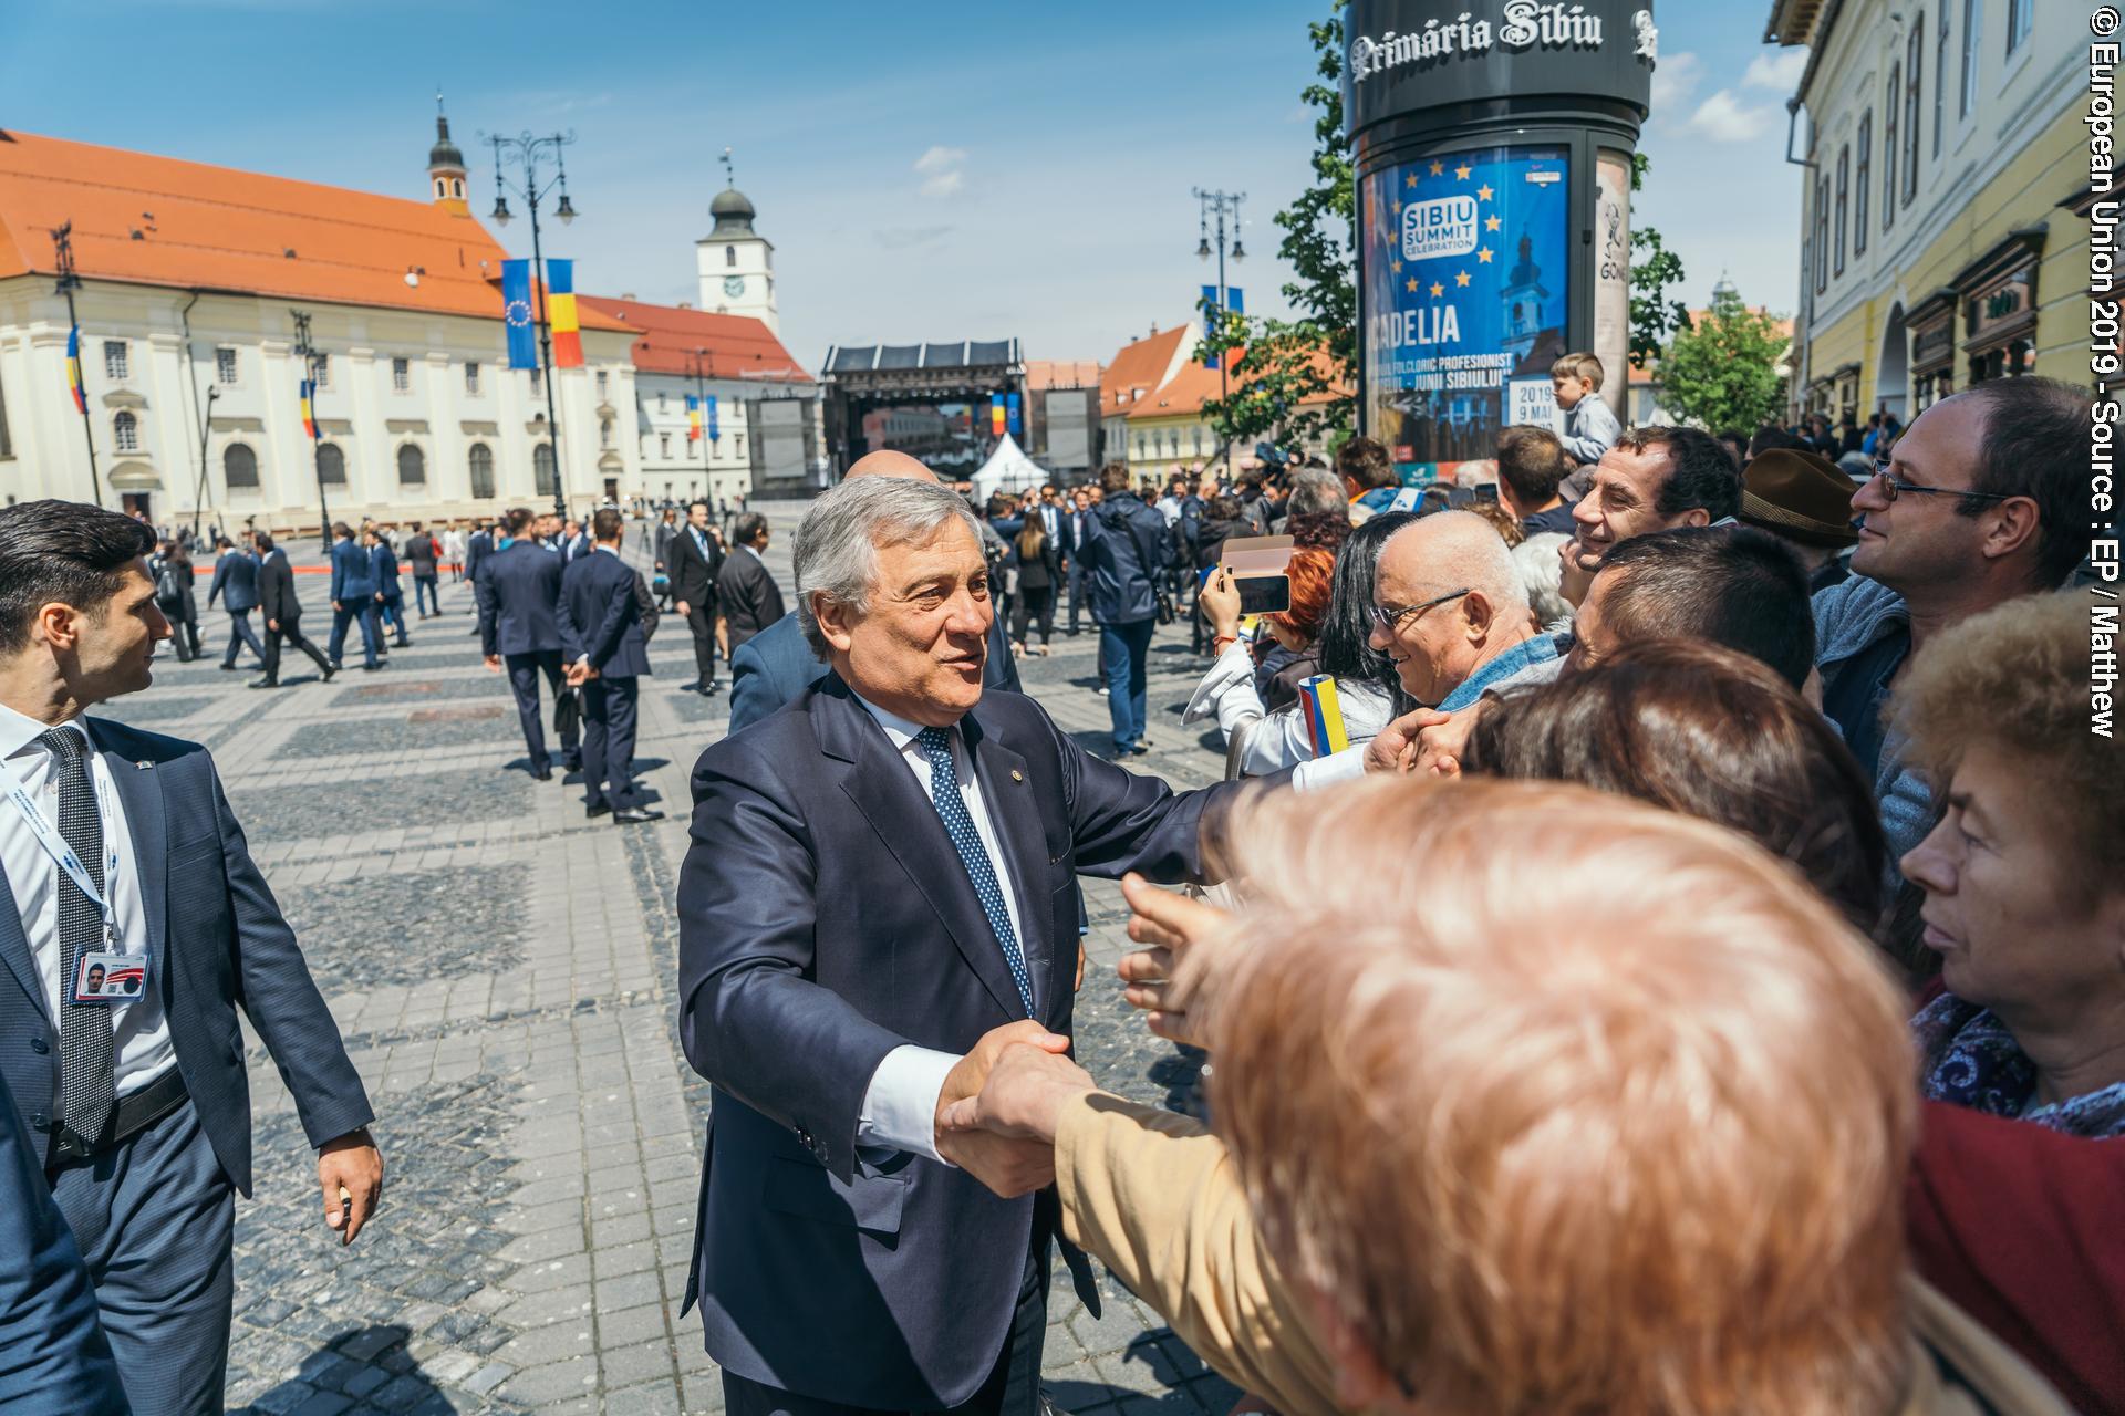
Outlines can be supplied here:
[[937, 807], [892, 752], [884, 728], [831, 673], [812, 696], [812, 730], [820, 747], [850, 764], [850, 773], [842, 779], [842, 792], [848, 794], [884, 847], [901, 862], [907, 879], [929, 900], [931, 911], [952, 934], [952, 945], [967, 960], [967, 968], [1007, 1017], [1018, 1017], [1026, 1004], [1018, 998], [1012, 968], [1003, 962], [1003, 947], [997, 943], [997, 932], [988, 928], [988, 915], [982, 913], [982, 900], [973, 894], [967, 868], [958, 864], [958, 849], [944, 832]]

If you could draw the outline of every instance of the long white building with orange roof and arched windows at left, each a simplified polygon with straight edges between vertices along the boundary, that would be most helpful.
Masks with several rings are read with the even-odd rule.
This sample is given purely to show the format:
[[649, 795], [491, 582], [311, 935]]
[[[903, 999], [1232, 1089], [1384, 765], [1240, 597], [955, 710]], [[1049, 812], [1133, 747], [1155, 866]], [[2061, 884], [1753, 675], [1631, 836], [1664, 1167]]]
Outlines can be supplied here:
[[[468, 212], [444, 119], [429, 183], [406, 202], [0, 132], [0, 495], [278, 531], [317, 526], [321, 501], [353, 520], [546, 505], [557, 482], [576, 510], [648, 495], [635, 331], [582, 301], [557, 448], [538, 372], [506, 367], [506, 253]], [[319, 355], [314, 456], [298, 312]]]

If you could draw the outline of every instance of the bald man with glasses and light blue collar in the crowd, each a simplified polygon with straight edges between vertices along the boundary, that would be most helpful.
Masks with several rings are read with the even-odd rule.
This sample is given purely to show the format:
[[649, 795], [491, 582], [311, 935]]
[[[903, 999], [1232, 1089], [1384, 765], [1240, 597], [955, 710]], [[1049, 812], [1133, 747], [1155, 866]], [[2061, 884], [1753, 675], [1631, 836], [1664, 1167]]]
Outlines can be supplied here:
[[[1394, 660], [1402, 692], [1456, 713], [1492, 688], [1558, 675], [1564, 635], [1534, 622], [1528, 588], [1498, 529], [1475, 512], [1409, 522], [1379, 552], [1368, 643]], [[1364, 747], [1347, 747], [1294, 775], [1320, 788], [1364, 773]]]

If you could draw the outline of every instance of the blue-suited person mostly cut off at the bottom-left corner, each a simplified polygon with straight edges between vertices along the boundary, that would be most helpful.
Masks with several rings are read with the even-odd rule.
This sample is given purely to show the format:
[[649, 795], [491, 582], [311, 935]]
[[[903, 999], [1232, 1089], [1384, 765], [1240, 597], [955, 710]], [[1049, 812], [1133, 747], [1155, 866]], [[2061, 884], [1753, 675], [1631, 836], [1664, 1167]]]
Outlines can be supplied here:
[[128, 1416], [96, 1287], [0, 1076], [0, 1414]]

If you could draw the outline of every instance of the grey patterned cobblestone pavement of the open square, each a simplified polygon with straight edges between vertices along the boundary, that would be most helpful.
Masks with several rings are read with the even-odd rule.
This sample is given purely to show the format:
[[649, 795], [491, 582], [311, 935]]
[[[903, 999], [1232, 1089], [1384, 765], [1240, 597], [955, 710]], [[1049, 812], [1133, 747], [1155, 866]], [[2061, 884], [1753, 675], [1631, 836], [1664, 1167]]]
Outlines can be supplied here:
[[[788, 584], [799, 507], [763, 510]], [[323, 575], [298, 580], [323, 639]], [[584, 822], [578, 785], [525, 773], [508, 686], [472, 637], [470, 588], [446, 580], [442, 592], [442, 618], [414, 620], [412, 647], [374, 675], [353, 654], [319, 684], [289, 656], [289, 688], [251, 692], [249, 654], [242, 673], [223, 673], [210, 652], [159, 660], [151, 690], [110, 705], [212, 747], [378, 1110], [385, 1206], [340, 1248], [319, 1223], [289, 1095], [249, 1038], [257, 1197], [236, 1221], [230, 1408], [718, 1412], [701, 1320], [678, 1316], [708, 1085], [676, 1040], [672, 896], [686, 773], [722, 732], [725, 698], [680, 690], [691, 643], [667, 620], [638, 769], [669, 819]], [[208, 645], [227, 639], [221, 611], [202, 609], [200, 631]], [[1222, 771], [1222, 749], [1179, 726], [1201, 667], [1186, 631], [1160, 631], [1156, 747], [1137, 771], [1175, 785]], [[1107, 749], [1090, 622], [1080, 637], [1058, 626], [1054, 654], [1022, 673], [1065, 730]], [[1118, 1091], [1188, 1106], [1196, 1061], [1135, 1023], [1114, 981], [1128, 947], [1120, 890], [1086, 881], [1086, 906], [1082, 1059]], [[1111, 1276], [1101, 1282], [1096, 1320], [1067, 1278], [1054, 1291], [1056, 1405], [1222, 1416], [1239, 1393]]]

